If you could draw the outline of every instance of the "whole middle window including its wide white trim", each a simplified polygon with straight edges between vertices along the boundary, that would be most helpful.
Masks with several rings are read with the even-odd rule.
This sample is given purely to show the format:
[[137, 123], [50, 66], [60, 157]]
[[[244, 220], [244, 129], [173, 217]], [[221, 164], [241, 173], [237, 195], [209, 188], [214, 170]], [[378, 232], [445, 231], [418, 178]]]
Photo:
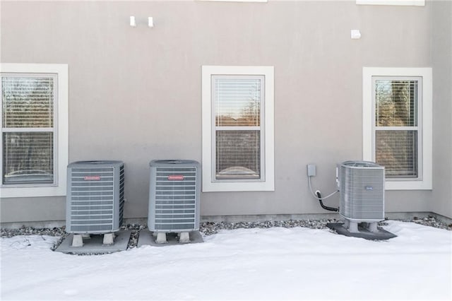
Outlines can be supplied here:
[[202, 73], [203, 191], [273, 191], [273, 67]]

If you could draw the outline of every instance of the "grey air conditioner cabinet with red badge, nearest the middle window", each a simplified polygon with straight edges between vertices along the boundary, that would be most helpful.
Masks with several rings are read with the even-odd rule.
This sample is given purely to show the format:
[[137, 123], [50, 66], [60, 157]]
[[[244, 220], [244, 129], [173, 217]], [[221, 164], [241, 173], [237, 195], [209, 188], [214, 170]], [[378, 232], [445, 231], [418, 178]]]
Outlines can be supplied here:
[[153, 160], [149, 165], [149, 230], [199, 230], [200, 164], [194, 160]]

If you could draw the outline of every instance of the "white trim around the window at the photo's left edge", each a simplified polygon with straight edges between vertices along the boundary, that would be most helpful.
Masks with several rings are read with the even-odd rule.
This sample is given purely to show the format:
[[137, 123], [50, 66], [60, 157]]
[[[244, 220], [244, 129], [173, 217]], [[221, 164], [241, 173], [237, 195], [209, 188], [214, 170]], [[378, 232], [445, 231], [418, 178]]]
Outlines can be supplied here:
[[[0, 187], [0, 198], [65, 196], [66, 167], [69, 161], [69, 73], [67, 64], [0, 64], [0, 72], [5, 73], [57, 73], [57, 180], [48, 187]], [[3, 140], [3, 139], [2, 139]], [[0, 142], [3, 148], [3, 141]], [[1, 151], [1, 149], [0, 149]]]

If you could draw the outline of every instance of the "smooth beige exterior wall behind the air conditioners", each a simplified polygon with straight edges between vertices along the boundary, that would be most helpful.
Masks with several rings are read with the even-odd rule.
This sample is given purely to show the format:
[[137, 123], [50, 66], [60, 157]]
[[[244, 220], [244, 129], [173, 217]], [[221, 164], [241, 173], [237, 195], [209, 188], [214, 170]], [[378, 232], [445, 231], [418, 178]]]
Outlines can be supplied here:
[[[201, 215], [324, 213], [306, 165], [326, 193], [336, 163], [362, 158], [362, 67], [432, 66], [432, 16], [429, 3], [2, 2], [1, 61], [69, 64], [69, 158], [124, 160], [126, 218], [147, 216], [150, 160], [201, 162], [201, 66], [275, 66], [275, 191], [203, 193]], [[432, 195], [388, 191], [386, 211], [431, 211]], [[63, 220], [64, 199], [1, 200], [4, 222], [42, 218]]]

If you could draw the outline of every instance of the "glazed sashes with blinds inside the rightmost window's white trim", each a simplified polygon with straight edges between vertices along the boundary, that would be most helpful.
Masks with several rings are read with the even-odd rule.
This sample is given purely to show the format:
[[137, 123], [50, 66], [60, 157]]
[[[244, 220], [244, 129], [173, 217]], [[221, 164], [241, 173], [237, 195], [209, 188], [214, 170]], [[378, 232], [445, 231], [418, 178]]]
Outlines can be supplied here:
[[388, 178], [419, 177], [419, 80], [376, 79], [376, 163]]

